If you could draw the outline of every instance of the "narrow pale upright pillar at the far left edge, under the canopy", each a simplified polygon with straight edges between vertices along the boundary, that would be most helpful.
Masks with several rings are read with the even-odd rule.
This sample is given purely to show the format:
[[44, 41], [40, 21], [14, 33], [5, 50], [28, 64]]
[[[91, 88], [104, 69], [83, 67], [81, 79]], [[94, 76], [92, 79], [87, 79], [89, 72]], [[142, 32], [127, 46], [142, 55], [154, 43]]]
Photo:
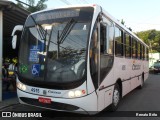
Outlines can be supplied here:
[[0, 102], [2, 101], [3, 11], [0, 11]]

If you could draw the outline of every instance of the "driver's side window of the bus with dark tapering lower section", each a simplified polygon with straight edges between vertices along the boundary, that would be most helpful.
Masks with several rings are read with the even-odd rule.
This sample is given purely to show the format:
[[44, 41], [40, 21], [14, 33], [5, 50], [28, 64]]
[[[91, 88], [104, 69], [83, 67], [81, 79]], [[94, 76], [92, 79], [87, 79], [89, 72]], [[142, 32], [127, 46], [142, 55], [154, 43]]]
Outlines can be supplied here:
[[100, 24], [100, 83], [105, 79], [113, 65], [114, 29], [111, 23], [110, 25], [108, 23], [109, 21]]

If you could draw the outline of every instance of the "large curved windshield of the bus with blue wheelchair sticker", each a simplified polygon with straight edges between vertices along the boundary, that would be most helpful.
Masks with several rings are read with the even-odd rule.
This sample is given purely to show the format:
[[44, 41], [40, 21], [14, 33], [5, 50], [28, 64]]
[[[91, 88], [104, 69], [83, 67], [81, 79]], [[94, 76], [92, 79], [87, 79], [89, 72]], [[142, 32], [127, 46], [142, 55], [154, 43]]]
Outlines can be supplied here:
[[19, 76], [44, 83], [86, 80], [92, 16], [93, 8], [52, 10], [29, 16], [20, 45]]

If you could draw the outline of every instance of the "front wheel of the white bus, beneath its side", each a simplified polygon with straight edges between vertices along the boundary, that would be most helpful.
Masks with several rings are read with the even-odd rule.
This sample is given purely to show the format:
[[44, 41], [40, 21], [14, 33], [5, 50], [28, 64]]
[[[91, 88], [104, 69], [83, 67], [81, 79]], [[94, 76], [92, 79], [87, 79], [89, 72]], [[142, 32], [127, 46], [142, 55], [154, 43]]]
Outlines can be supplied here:
[[110, 106], [111, 111], [116, 111], [120, 102], [120, 88], [118, 84], [115, 84], [113, 96], [112, 96], [112, 104]]

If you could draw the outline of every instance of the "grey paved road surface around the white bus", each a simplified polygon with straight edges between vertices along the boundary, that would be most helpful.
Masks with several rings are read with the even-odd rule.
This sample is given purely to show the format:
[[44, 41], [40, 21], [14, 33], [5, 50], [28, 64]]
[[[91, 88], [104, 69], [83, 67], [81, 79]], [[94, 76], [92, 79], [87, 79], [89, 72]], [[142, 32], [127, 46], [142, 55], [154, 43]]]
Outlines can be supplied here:
[[[15, 102], [17, 99], [14, 100]], [[9, 104], [9, 102], [8, 102]], [[2, 106], [2, 103], [0, 103], [0, 106]], [[1, 107], [0, 107], [1, 108]], [[20, 104], [14, 104], [13, 106], [8, 106], [0, 109], [1, 111], [45, 111], [44, 109], [24, 106]], [[117, 110], [116, 113], [110, 113], [109, 115], [116, 115], [121, 114], [127, 116], [127, 114], [130, 114], [130, 111], [151, 111], [151, 113], [154, 113], [154, 111], [159, 111], [160, 114], [160, 74], [153, 75], [150, 74], [149, 79], [146, 81], [143, 89], [135, 89], [128, 95], [126, 95]], [[125, 112], [122, 112], [125, 111]], [[129, 111], [129, 112], [128, 112]], [[132, 113], [132, 112], [131, 112]], [[144, 112], [143, 112], [144, 113]], [[53, 112], [53, 114], [57, 114], [57, 112]], [[160, 117], [107, 117], [108, 113], [106, 111], [101, 112], [97, 116], [93, 117], [54, 117], [54, 120], [94, 120], [94, 119], [100, 119], [100, 120], [160, 120]], [[61, 113], [62, 116], [64, 116], [63, 113]], [[70, 114], [72, 116], [72, 114]], [[123, 115], [123, 116], [124, 116]], [[17, 118], [12, 118], [13, 120], [17, 120]], [[21, 119], [21, 118], [19, 118]], [[49, 118], [51, 119], [51, 118]], [[8, 120], [7, 118], [3, 118], [3, 120]], [[26, 118], [28, 120], [28, 118]], [[30, 118], [30, 120], [36, 120], [36, 118]], [[44, 119], [46, 120], [46, 118]]]

